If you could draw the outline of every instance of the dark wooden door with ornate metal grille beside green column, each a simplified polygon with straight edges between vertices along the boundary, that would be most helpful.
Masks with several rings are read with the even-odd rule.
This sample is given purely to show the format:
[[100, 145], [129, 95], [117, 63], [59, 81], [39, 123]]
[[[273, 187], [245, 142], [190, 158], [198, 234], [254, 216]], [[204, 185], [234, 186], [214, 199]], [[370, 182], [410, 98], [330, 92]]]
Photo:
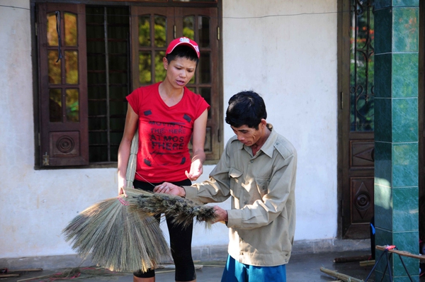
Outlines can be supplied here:
[[339, 1], [339, 230], [370, 236], [373, 218], [373, 0]]

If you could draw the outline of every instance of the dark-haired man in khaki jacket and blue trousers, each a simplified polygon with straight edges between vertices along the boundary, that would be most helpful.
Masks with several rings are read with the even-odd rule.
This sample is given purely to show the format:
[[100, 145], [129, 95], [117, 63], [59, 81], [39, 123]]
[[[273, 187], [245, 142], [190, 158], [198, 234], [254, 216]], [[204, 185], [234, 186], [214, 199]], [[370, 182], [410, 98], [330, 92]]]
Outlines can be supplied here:
[[295, 232], [297, 152], [266, 118], [259, 94], [232, 96], [226, 123], [236, 136], [227, 142], [210, 180], [192, 186], [164, 182], [154, 190], [202, 203], [232, 197], [231, 210], [215, 206], [217, 221], [229, 227], [222, 282], [286, 281]]

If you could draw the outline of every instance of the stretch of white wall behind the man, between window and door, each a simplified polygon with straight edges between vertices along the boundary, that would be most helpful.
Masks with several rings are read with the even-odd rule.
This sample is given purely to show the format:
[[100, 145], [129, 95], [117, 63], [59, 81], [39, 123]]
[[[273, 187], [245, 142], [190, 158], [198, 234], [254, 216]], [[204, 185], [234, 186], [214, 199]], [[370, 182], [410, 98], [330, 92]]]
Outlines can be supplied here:
[[335, 237], [336, 1], [223, 4], [225, 107], [238, 91], [263, 96], [268, 122], [298, 152], [295, 240]]

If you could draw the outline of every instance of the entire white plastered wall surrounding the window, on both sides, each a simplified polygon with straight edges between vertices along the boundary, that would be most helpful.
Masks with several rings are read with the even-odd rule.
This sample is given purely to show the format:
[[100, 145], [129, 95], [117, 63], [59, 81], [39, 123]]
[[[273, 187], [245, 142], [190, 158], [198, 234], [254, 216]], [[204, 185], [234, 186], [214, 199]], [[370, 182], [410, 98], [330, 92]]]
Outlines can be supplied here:
[[[116, 196], [116, 169], [34, 169], [30, 1], [0, 4], [0, 258], [73, 254], [62, 229], [84, 208]], [[336, 1], [223, 4], [225, 106], [244, 89], [263, 96], [268, 121], [298, 151], [295, 239], [333, 238], [336, 13], [328, 12]], [[266, 15], [287, 16], [246, 18]], [[196, 225], [193, 247], [215, 244], [227, 244], [225, 225]]]

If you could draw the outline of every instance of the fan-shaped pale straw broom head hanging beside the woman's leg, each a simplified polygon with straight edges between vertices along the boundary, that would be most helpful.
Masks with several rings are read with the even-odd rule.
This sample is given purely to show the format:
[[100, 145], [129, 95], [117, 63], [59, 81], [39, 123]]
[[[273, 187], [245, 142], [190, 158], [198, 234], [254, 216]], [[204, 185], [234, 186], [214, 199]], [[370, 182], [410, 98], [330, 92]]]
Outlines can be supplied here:
[[126, 190], [118, 196], [91, 205], [62, 231], [72, 249], [81, 256], [91, 255], [98, 266], [111, 271], [154, 269], [169, 260], [169, 247], [155, 218], [142, 210], [130, 211], [128, 199], [144, 191]]

